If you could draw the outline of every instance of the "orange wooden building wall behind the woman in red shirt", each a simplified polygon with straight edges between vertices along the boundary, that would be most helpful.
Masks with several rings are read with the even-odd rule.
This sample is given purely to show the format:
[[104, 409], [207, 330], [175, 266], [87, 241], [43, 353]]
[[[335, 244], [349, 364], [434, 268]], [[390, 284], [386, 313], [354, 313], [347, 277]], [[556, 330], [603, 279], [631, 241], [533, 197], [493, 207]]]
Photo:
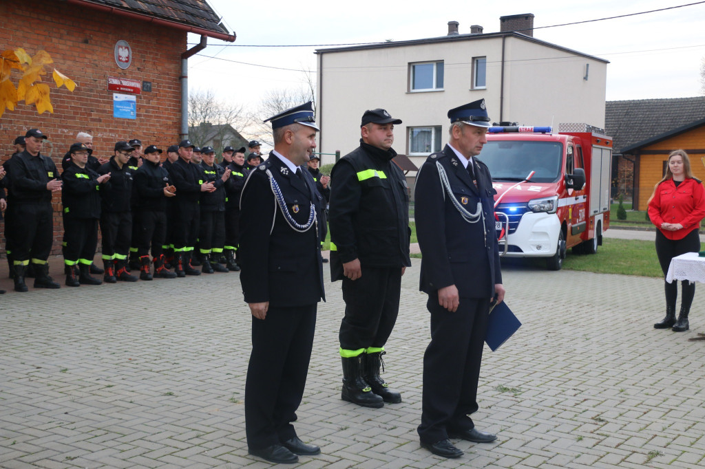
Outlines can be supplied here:
[[639, 208], [646, 210], [646, 202], [654, 192], [654, 185], [663, 177], [663, 163], [668, 160], [668, 153], [673, 150], [685, 150], [690, 159], [690, 168], [693, 175], [705, 181], [705, 163], [701, 158], [703, 153], [693, 150], [705, 149], [705, 126], [699, 127], [673, 138], [663, 140], [653, 145], [646, 146], [642, 151], [664, 151], [658, 155], [642, 155], [639, 157]]

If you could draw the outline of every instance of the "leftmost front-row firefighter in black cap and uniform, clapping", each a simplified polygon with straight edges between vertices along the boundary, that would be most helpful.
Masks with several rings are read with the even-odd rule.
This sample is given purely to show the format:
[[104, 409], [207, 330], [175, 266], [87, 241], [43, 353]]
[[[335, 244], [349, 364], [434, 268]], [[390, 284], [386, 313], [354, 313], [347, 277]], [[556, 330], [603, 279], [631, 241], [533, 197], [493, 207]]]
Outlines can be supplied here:
[[11, 191], [15, 222], [11, 227], [15, 291], [27, 292], [27, 265], [35, 268], [35, 288], [60, 288], [49, 277], [47, 258], [54, 241], [54, 208], [51, 196], [61, 191], [61, 180], [54, 161], [39, 153], [47, 136], [30, 129], [25, 134], [25, 151], [12, 158]]

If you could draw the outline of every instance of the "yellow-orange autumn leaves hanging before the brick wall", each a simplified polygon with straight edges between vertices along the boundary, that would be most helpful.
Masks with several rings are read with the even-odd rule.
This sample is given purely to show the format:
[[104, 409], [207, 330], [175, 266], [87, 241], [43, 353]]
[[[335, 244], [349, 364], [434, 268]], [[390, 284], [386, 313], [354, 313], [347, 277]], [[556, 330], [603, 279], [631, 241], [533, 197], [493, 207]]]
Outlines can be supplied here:
[[[49, 85], [42, 83], [42, 76], [47, 73], [44, 67], [54, 63], [47, 51], [37, 51], [33, 57], [21, 47], [14, 51], [2, 51], [0, 54], [0, 117], [5, 109], [14, 111], [18, 102], [37, 108], [39, 114], [44, 111], [54, 112], [49, 96]], [[17, 87], [11, 80], [12, 69], [20, 70], [21, 76]], [[19, 75], [19, 74], [16, 74]], [[76, 84], [71, 78], [66, 77], [54, 68], [54, 82], [56, 87], [66, 85], [68, 91], [73, 92]]]

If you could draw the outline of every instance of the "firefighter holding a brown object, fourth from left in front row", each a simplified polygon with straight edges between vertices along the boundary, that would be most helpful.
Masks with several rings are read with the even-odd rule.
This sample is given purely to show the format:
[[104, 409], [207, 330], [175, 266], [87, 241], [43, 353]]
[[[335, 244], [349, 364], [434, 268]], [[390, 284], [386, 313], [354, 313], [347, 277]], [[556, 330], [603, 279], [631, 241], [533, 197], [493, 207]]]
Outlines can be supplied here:
[[[140, 196], [140, 239], [137, 254], [140, 256], [140, 280], [152, 280], [149, 271], [149, 248], [152, 248], [154, 277], [176, 278], [164, 268], [164, 239], [166, 237], [166, 204], [173, 198], [176, 187], [169, 181], [169, 173], [161, 167], [161, 149], [149, 145], [145, 149], [145, 162], [135, 173], [135, 186]], [[135, 244], [135, 243], [133, 243]]]

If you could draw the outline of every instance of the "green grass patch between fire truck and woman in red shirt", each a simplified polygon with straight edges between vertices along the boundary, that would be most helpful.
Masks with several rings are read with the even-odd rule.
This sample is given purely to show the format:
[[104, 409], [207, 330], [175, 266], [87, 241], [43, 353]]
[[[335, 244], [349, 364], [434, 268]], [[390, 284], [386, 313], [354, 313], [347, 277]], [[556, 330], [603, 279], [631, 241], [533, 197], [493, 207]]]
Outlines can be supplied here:
[[563, 268], [594, 273], [663, 277], [653, 241], [603, 237], [602, 243], [597, 254], [568, 254], [563, 261]]

